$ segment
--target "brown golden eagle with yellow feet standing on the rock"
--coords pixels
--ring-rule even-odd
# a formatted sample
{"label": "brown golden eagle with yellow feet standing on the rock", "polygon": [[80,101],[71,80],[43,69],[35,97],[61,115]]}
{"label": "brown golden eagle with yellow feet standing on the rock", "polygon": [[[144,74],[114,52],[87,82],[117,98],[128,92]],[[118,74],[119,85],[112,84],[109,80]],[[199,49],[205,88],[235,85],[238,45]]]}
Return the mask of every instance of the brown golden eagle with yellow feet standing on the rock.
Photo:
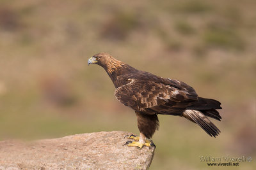
{"label": "brown golden eagle with yellow feet standing on the rock", "polygon": [[186,83],[140,71],[108,53],[93,55],[89,64],[98,64],[106,70],[115,85],[116,99],[136,113],[140,137],[129,136],[135,141],[127,141],[128,146],[154,145],[148,139],[159,127],[157,115],[184,117],[198,124],[210,136],[220,134],[207,117],[220,120],[216,109],[221,109],[221,103],[198,97],[193,87]]}

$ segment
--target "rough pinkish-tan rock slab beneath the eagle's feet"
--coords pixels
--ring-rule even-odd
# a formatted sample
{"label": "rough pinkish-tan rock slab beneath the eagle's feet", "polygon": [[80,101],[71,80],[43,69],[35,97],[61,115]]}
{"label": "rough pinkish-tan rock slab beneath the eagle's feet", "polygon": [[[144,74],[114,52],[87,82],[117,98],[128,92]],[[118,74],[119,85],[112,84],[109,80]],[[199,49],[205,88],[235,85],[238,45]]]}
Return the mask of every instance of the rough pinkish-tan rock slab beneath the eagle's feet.
{"label": "rough pinkish-tan rock slab beneath the eagle's feet", "polygon": [[29,143],[1,141],[0,169],[148,169],[155,148],[124,146],[127,134],[131,133],[95,132]]}

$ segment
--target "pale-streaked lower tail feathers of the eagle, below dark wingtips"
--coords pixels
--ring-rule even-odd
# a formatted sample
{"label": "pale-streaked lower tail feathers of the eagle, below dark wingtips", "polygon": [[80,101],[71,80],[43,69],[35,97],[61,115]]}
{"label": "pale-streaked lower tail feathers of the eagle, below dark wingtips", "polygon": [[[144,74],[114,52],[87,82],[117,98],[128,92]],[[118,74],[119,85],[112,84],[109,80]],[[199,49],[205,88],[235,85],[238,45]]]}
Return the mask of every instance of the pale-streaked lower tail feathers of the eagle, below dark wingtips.
{"label": "pale-streaked lower tail feathers of the eagle, below dark wingtips", "polygon": [[[215,110],[216,111],[216,110]],[[217,111],[218,112],[218,111]],[[204,129],[209,136],[218,136],[220,134],[220,129],[216,127],[207,117],[205,117],[204,113],[206,113],[206,116],[215,118],[217,117],[214,111],[198,111],[198,110],[185,110],[182,113],[182,117],[187,118],[191,122],[194,122],[198,124],[202,129]]]}

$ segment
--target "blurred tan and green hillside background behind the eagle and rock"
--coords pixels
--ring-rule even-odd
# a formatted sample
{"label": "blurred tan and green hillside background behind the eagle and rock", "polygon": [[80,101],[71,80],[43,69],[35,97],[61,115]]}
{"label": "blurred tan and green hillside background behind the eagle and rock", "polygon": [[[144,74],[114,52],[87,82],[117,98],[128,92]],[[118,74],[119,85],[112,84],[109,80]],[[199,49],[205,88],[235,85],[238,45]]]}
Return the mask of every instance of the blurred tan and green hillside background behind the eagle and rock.
{"label": "blurred tan and green hillside background behind the eagle and rock", "polygon": [[[256,167],[256,1],[0,1],[0,139],[139,134],[95,53],[184,81],[221,101],[221,134],[159,116],[150,169],[207,169],[200,156]],[[233,167],[234,168],[234,167]]]}

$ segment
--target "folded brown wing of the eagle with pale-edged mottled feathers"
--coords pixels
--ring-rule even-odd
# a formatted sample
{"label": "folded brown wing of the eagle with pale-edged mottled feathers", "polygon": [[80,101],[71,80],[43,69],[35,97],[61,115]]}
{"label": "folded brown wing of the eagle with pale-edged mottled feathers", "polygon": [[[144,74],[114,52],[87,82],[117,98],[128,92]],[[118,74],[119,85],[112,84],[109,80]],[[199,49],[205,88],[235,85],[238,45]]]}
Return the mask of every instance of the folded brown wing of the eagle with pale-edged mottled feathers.
{"label": "folded brown wing of the eagle with pale-edged mottled feathers", "polygon": [[198,100],[194,91],[138,79],[131,79],[129,83],[118,87],[115,96],[125,106],[148,115],[181,115],[191,103]]}

